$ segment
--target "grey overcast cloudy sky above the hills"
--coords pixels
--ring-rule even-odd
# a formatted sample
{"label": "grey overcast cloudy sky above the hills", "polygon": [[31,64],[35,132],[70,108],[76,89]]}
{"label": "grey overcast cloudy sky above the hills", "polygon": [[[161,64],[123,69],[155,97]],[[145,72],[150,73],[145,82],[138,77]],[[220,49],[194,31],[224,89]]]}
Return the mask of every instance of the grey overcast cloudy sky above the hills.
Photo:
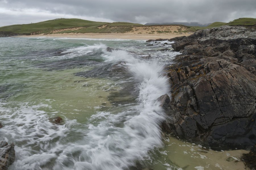
{"label": "grey overcast cloudy sky above the hills", "polygon": [[55,18],[102,22],[229,22],[256,18],[256,0],[0,0],[0,26]]}

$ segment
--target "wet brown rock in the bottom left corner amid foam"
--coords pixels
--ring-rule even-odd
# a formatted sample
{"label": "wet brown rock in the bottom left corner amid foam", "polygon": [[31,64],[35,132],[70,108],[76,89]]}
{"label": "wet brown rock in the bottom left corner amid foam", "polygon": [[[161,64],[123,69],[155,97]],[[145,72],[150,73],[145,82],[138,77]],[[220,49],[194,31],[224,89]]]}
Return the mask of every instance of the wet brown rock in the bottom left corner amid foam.
{"label": "wet brown rock in the bottom left corner amid foam", "polygon": [[0,141],[0,169],[7,170],[8,167],[14,162],[15,150],[14,144],[8,145],[5,141]]}

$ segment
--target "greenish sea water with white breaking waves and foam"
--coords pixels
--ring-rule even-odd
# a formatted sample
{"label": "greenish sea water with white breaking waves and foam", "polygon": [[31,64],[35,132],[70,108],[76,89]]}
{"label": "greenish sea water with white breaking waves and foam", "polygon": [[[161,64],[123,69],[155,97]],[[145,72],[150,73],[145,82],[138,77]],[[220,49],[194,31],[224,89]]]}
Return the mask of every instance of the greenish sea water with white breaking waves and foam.
{"label": "greenish sea water with white breaking waves and foam", "polygon": [[[16,151],[9,169],[244,168],[247,151],[216,152],[161,134],[156,99],[170,95],[163,68],[178,53],[156,50],[171,44],[0,40],[0,140]],[[53,123],[56,116],[63,123]]]}

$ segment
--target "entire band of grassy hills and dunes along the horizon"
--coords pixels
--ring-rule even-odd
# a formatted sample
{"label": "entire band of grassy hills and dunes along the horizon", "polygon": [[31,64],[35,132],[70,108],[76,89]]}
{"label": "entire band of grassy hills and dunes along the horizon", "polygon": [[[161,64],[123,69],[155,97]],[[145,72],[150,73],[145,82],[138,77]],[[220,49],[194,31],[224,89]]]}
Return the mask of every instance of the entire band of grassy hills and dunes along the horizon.
{"label": "entire band of grassy hills and dunes along the horizon", "polygon": [[[188,23],[188,22],[187,22]],[[169,23],[162,23],[164,25],[169,25]],[[180,32],[194,32],[196,30],[201,30],[205,28],[220,27],[222,25],[231,26],[247,26],[256,28],[256,18],[239,18],[229,23],[225,22],[214,22],[208,26],[182,26],[187,25],[185,22],[173,22],[173,25],[180,25],[184,27],[185,30]],[[191,25],[199,25],[198,22],[190,22]],[[34,34],[53,34],[53,33],[125,33],[133,32],[138,30],[137,28],[143,27],[143,29],[148,30],[148,34],[160,34],[160,33],[170,33],[169,30],[152,30],[150,32],[149,28],[144,28],[149,25],[136,24],[130,22],[96,22],[89,20],[82,20],[77,18],[56,18],[53,20],[47,20],[31,24],[16,24],[0,27],[0,37],[1,36],[14,36],[14,35],[34,35]],[[137,28],[136,28],[137,27]],[[151,26],[152,27],[152,26]],[[175,31],[174,31],[175,32]],[[141,34],[141,32],[137,33]]]}

